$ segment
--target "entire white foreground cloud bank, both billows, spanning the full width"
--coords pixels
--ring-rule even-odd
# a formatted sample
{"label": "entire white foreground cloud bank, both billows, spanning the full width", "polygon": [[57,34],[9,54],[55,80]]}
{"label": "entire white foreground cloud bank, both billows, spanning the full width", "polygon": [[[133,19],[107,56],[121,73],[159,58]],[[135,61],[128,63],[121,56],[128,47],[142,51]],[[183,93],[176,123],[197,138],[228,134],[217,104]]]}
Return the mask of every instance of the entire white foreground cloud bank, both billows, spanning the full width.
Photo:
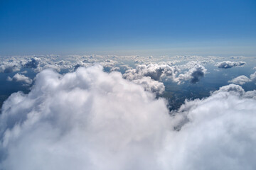
{"label": "entire white foreground cloud bank, both billows, spanning the full width", "polygon": [[169,115],[163,98],[102,69],[48,69],[12,94],[0,169],[255,169],[256,91],[230,84]]}

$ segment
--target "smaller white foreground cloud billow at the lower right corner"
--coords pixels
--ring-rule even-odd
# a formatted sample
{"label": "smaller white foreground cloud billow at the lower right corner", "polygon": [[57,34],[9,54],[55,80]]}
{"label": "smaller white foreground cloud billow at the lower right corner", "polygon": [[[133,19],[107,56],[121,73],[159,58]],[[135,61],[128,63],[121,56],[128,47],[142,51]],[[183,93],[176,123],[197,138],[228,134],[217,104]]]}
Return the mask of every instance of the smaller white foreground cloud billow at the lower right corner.
{"label": "smaller white foreground cloud billow at the lower right corner", "polygon": [[174,111],[166,169],[255,169],[255,92],[230,84]]}

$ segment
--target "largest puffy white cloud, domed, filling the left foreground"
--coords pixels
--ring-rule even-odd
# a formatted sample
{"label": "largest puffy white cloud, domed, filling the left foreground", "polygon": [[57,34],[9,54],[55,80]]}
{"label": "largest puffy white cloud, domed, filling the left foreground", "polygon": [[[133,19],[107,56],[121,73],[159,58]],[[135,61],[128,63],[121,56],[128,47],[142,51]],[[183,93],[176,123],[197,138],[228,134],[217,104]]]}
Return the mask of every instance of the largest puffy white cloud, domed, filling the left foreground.
{"label": "largest puffy white cloud, domed, filling the left foreground", "polygon": [[[0,115],[3,169],[158,169],[164,99],[102,67],[38,74]],[[14,163],[15,162],[15,163]]]}

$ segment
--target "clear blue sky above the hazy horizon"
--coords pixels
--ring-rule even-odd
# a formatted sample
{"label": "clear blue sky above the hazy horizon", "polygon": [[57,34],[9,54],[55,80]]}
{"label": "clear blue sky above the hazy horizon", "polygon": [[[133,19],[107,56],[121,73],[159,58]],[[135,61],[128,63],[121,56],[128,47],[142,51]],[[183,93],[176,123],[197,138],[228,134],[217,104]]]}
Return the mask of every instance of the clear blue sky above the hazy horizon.
{"label": "clear blue sky above the hazy horizon", "polygon": [[255,0],[0,0],[0,55],[255,55]]}

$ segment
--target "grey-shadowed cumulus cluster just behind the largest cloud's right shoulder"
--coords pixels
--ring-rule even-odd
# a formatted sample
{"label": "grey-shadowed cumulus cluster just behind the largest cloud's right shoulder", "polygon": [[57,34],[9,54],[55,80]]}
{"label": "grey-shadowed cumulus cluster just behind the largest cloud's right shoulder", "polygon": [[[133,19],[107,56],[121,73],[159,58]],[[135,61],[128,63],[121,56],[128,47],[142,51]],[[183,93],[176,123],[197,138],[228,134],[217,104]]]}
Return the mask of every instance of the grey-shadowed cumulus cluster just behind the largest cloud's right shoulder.
{"label": "grey-shadowed cumulus cluster just behind the largest cloud's right shoulder", "polygon": [[[160,62],[159,64],[141,64],[136,69],[128,69],[123,77],[134,81],[136,84],[142,84],[146,90],[161,94],[164,91],[164,84],[159,81],[169,79],[178,84],[184,81],[190,81],[192,84],[197,83],[201,77],[206,74],[206,68],[201,62],[188,62],[183,65],[171,66],[169,62]],[[187,70],[183,74],[178,74],[181,70]],[[145,78],[147,77],[147,78]],[[156,91],[158,89],[158,91]]]}

